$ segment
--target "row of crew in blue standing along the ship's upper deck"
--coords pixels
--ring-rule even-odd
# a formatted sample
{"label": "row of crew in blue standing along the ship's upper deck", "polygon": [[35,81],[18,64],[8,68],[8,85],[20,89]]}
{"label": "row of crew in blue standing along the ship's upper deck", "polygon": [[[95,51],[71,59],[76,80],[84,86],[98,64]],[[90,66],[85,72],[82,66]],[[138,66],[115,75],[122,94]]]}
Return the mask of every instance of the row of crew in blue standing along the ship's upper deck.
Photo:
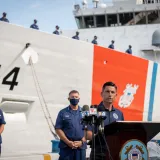
{"label": "row of crew in blue standing along the ship's upper deck", "polygon": [[[6,13],[6,12],[3,12],[2,17],[0,18],[0,21],[4,21],[4,22],[8,22],[8,23],[9,23],[9,20],[7,19],[6,16],[7,16],[7,13]],[[33,24],[30,26],[30,28],[39,30],[39,27],[38,27],[38,25],[37,25],[37,22],[38,22],[38,21],[37,21],[36,19],[34,19],[34,22],[33,22]],[[55,27],[55,31],[53,32],[53,34],[60,35],[59,26],[58,26],[58,25]],[[76,34],[75,34],[72,38],[73,38],[73,39],[76,39],[76,40],[79,40],[79,39],[80,39],[80,38],[79,38],[79,32],[77,31]],[[93,38],[93,40],[91,41],[91,43],[93,43],[93,44],[95,44],[95,45],[98,45],[97,39],[98,39],[98,37],[97,37],[97,36],[94,36],[94,38]],[[114,49],[114,43],[115,43],[115,41],[112,40],[112,41],[111,41],[111,44],[108,46],[108,48]],[[128,53],[128,54],[132,54],[132,46],[129,45],[129,46],[128,46],[128,49],[127,49],[125,52]]]}

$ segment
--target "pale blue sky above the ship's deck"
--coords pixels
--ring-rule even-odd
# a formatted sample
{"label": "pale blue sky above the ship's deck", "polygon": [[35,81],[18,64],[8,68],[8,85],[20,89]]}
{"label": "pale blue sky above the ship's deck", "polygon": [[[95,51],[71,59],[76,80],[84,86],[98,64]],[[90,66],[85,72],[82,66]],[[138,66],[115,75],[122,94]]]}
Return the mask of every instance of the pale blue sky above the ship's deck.
{"label": "pale blue sky above the ship's deck", "polygon": [[10,23],[24,27],[30,27],[37,19],[40,30],[45,32],[53,32],[56,25],[62,30],[77,29],[75,3],[81,4],[82,0],[0,0],[0,14],[6,12]]}

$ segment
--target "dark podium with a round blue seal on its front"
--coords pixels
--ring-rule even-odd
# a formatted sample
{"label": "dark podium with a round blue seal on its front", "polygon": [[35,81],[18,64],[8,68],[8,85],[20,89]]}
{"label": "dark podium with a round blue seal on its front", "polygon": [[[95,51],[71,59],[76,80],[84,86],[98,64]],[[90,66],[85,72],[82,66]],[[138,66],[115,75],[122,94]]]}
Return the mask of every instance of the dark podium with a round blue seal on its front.
{"label": "dark podium with a round blue seal on its front", "polygon": [[[158,122],[118,121],[104,128],[113,160],[147,160],[147,142],[159,132],[160,123]],[[98,135],[95,139],[97,137]],[[96,143],[96,145],[99,144]],[[106,151],[106,160],[110,160],[108,151]]]}

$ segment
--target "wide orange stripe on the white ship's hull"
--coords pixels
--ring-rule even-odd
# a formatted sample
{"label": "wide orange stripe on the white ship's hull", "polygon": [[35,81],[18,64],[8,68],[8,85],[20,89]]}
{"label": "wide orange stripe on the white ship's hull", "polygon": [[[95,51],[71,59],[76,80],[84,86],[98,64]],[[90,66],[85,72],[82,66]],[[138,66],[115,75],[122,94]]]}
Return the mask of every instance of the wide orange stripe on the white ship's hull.
{"label": "wide orange stripe on the white ship's hull", "polygon": [[[122,110],[125,120],[142,121],[148,65],[147,60],[94,46],[92,104],[98,104],[102,100],[102,85],[107,81],[113,81],[118,86],[115,107]],[[139,87],[129,107],[121,108],[118,102],[127,84]]]}

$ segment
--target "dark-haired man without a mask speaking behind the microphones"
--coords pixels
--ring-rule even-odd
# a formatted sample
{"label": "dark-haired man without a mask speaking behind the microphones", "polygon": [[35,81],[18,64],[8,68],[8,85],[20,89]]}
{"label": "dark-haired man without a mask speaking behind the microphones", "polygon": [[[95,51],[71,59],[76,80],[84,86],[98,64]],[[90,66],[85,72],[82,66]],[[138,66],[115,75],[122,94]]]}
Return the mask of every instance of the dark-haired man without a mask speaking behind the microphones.
{"label": "dark-haired man without a mask speaking behind the microphones", "polygon": [[[113,106],[113,102],[117,97],[117,86],[113,82],[106,82],[103,84],[101,92],[102,102],[98,105],[97,111],[105,111],[107,118],[104,120],[104,126],[115,122],[123,121],[123,113]],[[95,134],[97,134],[98,129],[95,127]],[[100,132],[100,131],[99,131]],[[92,127],[88,127],[87,139],[92,140]],[[98,139],[96,139],[95,146],[95,160],[105,160],[106,158],[106,142],[105,136],[99,134]],[[91,149],[90,160],[93,159],[93,149]]]}

